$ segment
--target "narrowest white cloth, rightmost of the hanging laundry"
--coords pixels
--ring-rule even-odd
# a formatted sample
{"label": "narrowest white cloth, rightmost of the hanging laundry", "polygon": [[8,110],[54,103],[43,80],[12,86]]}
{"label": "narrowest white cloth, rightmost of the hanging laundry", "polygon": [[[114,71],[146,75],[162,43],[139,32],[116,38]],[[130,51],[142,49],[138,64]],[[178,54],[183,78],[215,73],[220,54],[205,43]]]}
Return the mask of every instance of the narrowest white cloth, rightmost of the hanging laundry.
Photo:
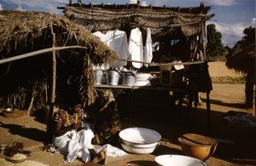
{"label": "narrowest white cloth, rightmost of the hanging laundry", "polygon": [[[146,43],[144,46],[144,61],[150,63],[153,59],[153,52],[152,52],[152,39],[151,39],[151,31],[148,28],[147,29],[147,38]],[[144,64],[145,66],[148,66],[148,64]]]}

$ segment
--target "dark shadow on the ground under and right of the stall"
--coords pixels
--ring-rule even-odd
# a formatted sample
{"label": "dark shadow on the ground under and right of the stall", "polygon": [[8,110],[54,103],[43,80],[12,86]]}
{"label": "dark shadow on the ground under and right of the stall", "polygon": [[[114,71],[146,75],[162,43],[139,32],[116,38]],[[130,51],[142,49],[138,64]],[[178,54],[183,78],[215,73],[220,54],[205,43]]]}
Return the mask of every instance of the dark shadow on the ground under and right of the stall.
{"label": "dark shadow on the ground under and right of the stall", "polygon": [[[211,100],[211,103],[219,106],[230,106],[233,109],[245,108],[243,103],[224,103],[221,100]],[[132,109],[123,109],[120,113],[125,115],[123,116],[125,117],[123,128],[154,129],[162,135],[163,140],[172,142],[177,146],[179,146],[177,139],[181,135],[187,133],[206,135],[218,140],[217,150],[212,157],[230,163],[256,165],[256,128],[230,127],[224,121],[225,112],[212,110],[208,121],[206,108],[198,107],[196,110],[188,112],[185,106],[177,110],[177,108],[170,107],[168,103],[154,106],[154,103],[148,105],[137,102],[134,103]],[[161,154],[182,154],[182,152],[167,146],[159,146],[153,154],[158,156]]]}

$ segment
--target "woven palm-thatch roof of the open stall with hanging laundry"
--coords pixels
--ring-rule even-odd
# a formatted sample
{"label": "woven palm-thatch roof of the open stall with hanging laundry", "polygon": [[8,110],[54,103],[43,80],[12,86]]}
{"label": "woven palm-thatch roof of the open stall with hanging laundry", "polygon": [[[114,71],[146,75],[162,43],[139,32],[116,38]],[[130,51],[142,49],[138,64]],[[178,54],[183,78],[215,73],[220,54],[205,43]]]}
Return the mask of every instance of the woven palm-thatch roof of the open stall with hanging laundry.
{"label": "woven palm-thatch roof of the open stall with hanging laundry", "polygon": [[201,22],[211,19],[211,7],[196,8],[143,7],[139,4],[67,4],[63,13],[90,31],[125,30],[140,27],[151,29],[152,37],[173,36],[179,31],[185,36],[201,33]]}

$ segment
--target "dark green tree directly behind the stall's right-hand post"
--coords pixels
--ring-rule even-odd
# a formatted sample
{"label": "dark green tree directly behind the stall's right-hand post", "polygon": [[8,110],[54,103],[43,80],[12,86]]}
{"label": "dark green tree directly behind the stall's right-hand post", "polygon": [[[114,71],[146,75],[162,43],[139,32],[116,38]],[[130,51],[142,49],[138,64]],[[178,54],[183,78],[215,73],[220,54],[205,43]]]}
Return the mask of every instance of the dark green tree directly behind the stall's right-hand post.
{"label": "dark green tree directly behind the stall's right-hand post", "polygon": [[208,57],[223,56],[226,49],[221,42],[222,34],[214,24],[207,25],[207,55]]}

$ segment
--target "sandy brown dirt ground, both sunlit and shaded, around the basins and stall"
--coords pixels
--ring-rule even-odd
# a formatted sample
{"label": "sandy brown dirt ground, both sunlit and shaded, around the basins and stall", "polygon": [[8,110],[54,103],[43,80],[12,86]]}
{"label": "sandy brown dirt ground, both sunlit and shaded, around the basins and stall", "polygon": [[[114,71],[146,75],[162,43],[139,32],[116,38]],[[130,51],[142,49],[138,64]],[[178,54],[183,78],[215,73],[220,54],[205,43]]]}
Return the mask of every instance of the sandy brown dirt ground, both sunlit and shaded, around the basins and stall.
{"label": "sandy brown dirt ground, both sunlit and shaded, around the basins and stall", "polygon": [[[148,94],[147,94],[148,93]],[[147,98],[143,98],[146,94]],[[159,97],[161,96],[161,97]],[[129,153],[123,157],[107,157],[105,165],[122,166],[123,163],[138,163],[141,166],[154,166],[154,157],[162,154],[183,154],[178,137],[195,133],[210,136],[218,141],[217,151],[206,163],[208,165],[256,165],[256,128],[230,127],[224,121],[226,112],[248,112],[244,108],[244,85],[213,83],[211,98],[211,121],[207,125],[206,95],[201,94],[203,103],[195,111],[171,109],[168,97],[156,92],[135,94],[137,100],[131,110],[121,110],[124,120],[122,128],[143,127],[160,133],[162,140],[151,154],[138,155]],[[162,99],[160,99],[162,98]],[[147,101],[147,102],[146,102]],[[149,101],[149,102],[148,102]],[[188,117],[185,117],[188,113]],[[46,126],[35,117],[23,116],[6,118],[0,116],[0,145],[21,142],[25,150],[32,152],[27,159],[48,165],[82,165],[76,159],[73,163],[64,163],[65,156],[43,152],[43,140]],[[7,158],[3,153],[0,158]],[[19,164],[17,164],[19,165]]]}

